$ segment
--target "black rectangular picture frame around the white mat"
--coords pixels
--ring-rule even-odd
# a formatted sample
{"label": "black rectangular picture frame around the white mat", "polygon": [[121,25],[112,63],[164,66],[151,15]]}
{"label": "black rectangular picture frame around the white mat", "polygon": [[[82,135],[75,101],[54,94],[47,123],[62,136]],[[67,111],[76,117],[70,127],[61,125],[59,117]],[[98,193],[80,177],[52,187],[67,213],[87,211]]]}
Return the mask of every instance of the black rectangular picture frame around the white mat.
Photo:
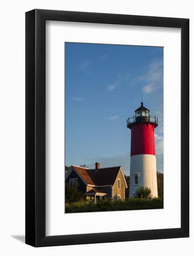
{"label": "black rectangular picture frame around the white mat", "polygon": [[[46,20],[181,28],[181,228],[46,236]],[[188,236],[189,19],[39,9],[27,12],[26,243],[34,247],[43,247]]]}

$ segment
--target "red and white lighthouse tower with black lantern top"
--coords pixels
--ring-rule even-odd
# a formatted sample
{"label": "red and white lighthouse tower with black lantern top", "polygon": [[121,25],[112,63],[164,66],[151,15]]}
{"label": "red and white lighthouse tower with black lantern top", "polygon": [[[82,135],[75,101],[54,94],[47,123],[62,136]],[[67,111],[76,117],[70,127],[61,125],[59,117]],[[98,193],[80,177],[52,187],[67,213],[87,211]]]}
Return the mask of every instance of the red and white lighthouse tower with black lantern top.
{"label": "red and white lighthouse tower with black lantern top", "polygon": [[127,128],[131,130],[129,196],[133,196],[139,187],[147,187],[153,197],[158,197],[154,142],[157,126],[158,118],[150,116],[143,102],[135,115],[127,119]]}

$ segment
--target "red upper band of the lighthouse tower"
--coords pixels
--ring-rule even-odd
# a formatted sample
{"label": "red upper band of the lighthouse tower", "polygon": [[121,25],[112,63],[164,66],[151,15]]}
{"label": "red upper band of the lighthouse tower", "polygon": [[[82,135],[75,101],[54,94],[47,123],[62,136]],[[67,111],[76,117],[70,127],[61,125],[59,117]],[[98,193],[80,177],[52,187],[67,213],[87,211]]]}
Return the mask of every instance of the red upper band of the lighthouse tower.
{"label": "red upper band of the lighthouse tower", "polygon": [[131,127],[131,156],[155,155],[154,123],[136,123]]}

